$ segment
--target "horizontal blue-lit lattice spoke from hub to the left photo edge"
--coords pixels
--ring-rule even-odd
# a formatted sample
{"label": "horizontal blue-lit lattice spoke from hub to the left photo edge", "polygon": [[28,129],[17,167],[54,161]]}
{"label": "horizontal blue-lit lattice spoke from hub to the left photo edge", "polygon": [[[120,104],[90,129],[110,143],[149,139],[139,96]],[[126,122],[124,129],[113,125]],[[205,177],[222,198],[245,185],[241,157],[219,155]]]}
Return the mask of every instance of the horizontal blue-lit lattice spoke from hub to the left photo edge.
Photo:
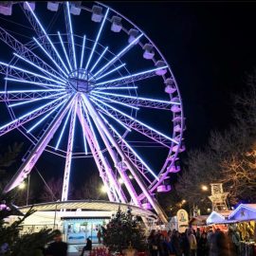
{"label": "horizontal blue-lit lattice spoke from hub to the left photo edge", "polygon": [[60,91],[64,89],[0,91],[0,101],[29,101],[50,96],[55,98]]}

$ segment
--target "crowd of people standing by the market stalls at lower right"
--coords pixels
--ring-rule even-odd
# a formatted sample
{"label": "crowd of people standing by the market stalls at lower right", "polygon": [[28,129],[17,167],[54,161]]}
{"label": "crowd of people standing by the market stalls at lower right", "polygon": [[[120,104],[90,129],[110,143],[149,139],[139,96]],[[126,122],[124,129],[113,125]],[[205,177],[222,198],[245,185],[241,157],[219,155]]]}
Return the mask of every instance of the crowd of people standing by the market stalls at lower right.
{"label": "crowd of people standing by the market stalls at lower right", "polygon": [[239,241],[239,232],[233,229],[228,233],[192,228],[179,233],[174,229],[167,234],[152,230],[148,237],[150,256],[237,256]]}

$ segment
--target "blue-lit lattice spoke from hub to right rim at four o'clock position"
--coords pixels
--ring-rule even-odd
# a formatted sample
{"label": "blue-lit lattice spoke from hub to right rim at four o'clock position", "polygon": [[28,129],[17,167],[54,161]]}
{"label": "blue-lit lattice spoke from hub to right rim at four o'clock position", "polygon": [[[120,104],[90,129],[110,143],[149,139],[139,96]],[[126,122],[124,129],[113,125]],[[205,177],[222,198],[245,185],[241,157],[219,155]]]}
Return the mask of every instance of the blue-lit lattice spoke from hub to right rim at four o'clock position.
{"label": "blue-lit lattice spoke from hub to right rim at four o'clock position", "polygon": [[176,140],[172,137],[168,137],[161,132],[155,130],[153,127],[147,125],[146,123],[139,121],[138,119],[134,119],[131,116],[127,115],[126,113],[120,111],[119,109],[113,107],[112,105],[100,101],[98,99],[95,99],[95,101],[98,101],[101,105],[105,106],[105,110],[112,116],[114,116],[116,119],[119,119],[124,124],[129,126],[131,129],[136,130],[138,133],[150,137],[154,139],[156,142],[159,142],[160,144],[164,145],[165,147],[170,148],[169,143],[174,142],[175,144],[178,144]]}

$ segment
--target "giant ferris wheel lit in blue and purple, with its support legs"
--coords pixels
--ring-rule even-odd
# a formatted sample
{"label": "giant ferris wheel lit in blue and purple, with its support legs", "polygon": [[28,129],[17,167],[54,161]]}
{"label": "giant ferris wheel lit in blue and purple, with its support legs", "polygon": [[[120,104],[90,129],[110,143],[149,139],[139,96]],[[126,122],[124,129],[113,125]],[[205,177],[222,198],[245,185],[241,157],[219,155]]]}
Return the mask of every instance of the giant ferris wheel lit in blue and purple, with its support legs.
{"label": "giant ferris wheel lit in blue and purple, with its support legs", "polygon": [[[166,221],[155,192],[171,191],[170,176],[180,171],[184,117],[170,65],[152,40],[98,2],[9,2],[0,12],[9,15],[0,26],[9,46],[0,101],[11,117],[0,136],[18,129],[31,141],[5,192],[50,152],[64,158],[66,201],[72,162],[84,158],[95,162],[110,201],[154,209]],[[16,31],[2,27],[11,18]],[[164,160],[153,168],[158,149]]]}

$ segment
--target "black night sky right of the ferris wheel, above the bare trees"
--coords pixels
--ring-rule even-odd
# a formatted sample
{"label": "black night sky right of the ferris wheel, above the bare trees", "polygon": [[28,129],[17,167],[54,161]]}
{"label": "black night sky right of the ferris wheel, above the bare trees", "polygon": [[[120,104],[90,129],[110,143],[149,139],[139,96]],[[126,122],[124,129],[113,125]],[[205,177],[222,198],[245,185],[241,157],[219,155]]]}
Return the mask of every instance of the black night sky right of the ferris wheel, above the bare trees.
{"label": "black night sky right of the ferris wheel, above the bare trees", "polygon": [[[243,90],[247,73],[256,63],[256,3],[158,1],[108,5],[144,30],[171,65],[184,105],[187,148],[202,147],[210,130],[227,128],[232,121],[231,94]],[[1,137],[1,147],[11,139]],[[14,139],[22,141],[23,137]],[[41,161],[46,174],[47,164]],[[49,165],[49,170],[56,169],[58,161],[50,160]]]}

